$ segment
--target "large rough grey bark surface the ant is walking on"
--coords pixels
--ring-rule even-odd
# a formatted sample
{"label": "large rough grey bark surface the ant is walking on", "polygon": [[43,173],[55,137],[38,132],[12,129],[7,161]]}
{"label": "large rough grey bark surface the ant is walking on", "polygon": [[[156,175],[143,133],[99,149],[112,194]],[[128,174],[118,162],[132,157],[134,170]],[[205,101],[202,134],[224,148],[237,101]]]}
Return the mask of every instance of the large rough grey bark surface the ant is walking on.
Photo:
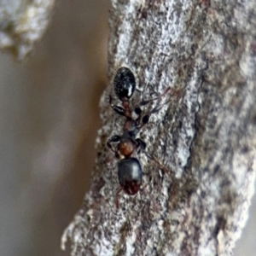
{"label": "large rough grey bark surface the ant is walking on", "polygon": [[[110,83],[90,191],[62,248],[69,240],[75,256],[232,255],[256,168],[255,10],[255,1],[112,1],[109,79],[126,66],[144,97],[172,88],[139,133],[168,171],[141,152],[141,192],[117,194],[106,140],[124,119],[108,104]],[[137,92],[132,106],[141,99]]]}

